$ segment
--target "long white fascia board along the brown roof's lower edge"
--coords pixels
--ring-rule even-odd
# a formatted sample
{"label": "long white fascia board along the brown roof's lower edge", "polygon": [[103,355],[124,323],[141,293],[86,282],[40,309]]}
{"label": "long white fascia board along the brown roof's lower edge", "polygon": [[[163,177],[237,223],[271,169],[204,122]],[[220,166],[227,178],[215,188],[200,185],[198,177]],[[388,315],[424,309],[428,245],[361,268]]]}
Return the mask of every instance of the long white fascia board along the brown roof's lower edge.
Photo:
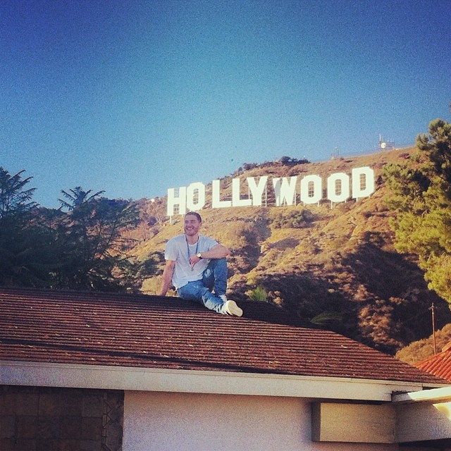
{"label": "long white fascia board along the brown roof's lower edge", "polygon": [[0,384],[385,402],[392,400],[393,392],[424,389],[421,383],[373,379],[6,360],[0,361]]}

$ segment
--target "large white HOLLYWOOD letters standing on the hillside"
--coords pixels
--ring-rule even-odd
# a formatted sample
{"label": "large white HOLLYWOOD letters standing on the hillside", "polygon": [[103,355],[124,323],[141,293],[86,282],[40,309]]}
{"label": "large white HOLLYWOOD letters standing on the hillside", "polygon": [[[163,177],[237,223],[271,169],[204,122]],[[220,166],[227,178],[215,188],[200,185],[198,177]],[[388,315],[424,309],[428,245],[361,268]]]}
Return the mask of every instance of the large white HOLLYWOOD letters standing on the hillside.
{"label": "large white HOLLYWOOD letters standing on the hillside", "polygon": [[[221,196],[221,180],[211,182],[211,208],[230,208],[234,206],[262,206],[268,194],[268,175],[256,180],[247,177],[247,197],[241,195],[240,178],[232,179],[232,195],[228,199]],[[306,175],[298,183],[297,175],[272,179],[276,206],[295,205],[297,194],[303,204],[318,204],[323,199],[323,180],[319,175]],[[299,191],[298,191],[299,187]],[[331,204],[345,202],[352,197],[369,197],[374,192],[374,171],[365,166],[352,169],[352,175],[333,173],[326,180],[326,198]],[[206,204],[206,186],[194,182],[187,187],[168,189],[168,216],[198,211]]]}

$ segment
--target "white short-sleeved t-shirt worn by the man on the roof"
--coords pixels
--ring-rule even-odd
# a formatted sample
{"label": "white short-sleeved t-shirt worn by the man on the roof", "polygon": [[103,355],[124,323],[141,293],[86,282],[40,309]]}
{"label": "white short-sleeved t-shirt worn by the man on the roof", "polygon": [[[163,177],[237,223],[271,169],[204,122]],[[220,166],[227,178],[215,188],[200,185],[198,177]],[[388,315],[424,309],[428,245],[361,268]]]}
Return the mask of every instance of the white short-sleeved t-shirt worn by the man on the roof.
{"label": "white short-sleeved t-shirt worn by the man on the roof", "polygon": [[216,245],[218,245],[216,240],[204,235],[199,235],[199,240],[194,245],[188,245],[185,234],[168,240],[164,249],[164,258],[175,261],[172,283],[176,289],[183,287],[188,282],[202,279],[202,273],[209,264],[209,259],[202,259],[191,266],[189,258],[198,252],[209,251]]}

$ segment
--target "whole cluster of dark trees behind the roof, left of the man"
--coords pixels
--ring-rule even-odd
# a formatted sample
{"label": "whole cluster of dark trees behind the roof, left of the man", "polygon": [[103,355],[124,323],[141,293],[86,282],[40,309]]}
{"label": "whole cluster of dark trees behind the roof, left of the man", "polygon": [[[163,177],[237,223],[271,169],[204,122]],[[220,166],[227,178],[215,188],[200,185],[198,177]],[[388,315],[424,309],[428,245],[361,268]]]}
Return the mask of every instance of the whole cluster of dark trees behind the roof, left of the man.
{"label": "whole cluster of dark trees behind the roof, left of the man", "polygon": [[[125,237],[140,221],[132,202],[78,186],[61,208],[39,208],[25,171],[0,167],[0,285],[75,290],[135,290],[154,271]],[[67,210],[67,211],[64,211]]]}

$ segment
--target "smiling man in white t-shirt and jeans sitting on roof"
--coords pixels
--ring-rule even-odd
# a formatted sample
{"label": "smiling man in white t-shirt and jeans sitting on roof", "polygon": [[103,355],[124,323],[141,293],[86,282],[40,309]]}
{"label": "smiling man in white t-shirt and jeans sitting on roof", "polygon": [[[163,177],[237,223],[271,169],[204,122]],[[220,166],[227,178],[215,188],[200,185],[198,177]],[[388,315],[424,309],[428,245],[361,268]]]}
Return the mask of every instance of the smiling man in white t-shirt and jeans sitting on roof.
{"label": "smiling man in white t-shirt and jeans sitting on roof", "polygon": [[185,233],[166,243],[160,295],[166,296],[172,284],[182,299],[199,302],[218,313],[242,316],[236,302],[226,298],[229,250],[200,235],[201,227],[201,216],[190,211],[185,215]]}

